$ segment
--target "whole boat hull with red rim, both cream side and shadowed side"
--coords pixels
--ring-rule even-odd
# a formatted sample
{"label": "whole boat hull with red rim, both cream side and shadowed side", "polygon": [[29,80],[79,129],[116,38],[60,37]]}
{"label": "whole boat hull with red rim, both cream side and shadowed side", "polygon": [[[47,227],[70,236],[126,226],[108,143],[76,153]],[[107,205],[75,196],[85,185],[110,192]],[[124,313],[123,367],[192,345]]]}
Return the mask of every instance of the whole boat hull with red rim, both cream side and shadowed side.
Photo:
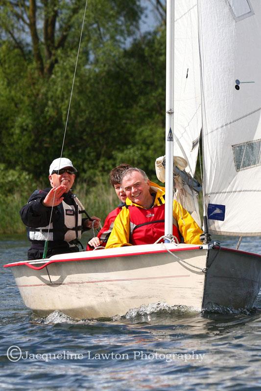
{"label": "whole boat hull with red rim, both cream side and shadowed side", "polygon": [[261,256],[188,244],[71,253],[5,266],[12,267],[24,304],[40,316],[60,310],[78,319],[111,317],[157,302],[198,310],[213,304],[244,308],[261,288]]}

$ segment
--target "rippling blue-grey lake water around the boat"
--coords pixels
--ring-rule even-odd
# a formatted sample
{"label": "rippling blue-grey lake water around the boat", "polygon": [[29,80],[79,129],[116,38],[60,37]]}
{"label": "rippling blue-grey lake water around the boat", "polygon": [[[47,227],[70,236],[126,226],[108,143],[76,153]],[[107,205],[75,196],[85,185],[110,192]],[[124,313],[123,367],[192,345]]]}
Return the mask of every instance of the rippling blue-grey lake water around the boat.
{"label": "rippling blue-grey lake water around the boat", "polygon": [[[0,264],[25,259],[27,248],[0,239]],[[261,238],[243,238],[240,249],[261,254]],[[0,390],[261,390],[261,295],[251,312],[162,303],[75,321],[33,315],[2,267],[0,293]]]}

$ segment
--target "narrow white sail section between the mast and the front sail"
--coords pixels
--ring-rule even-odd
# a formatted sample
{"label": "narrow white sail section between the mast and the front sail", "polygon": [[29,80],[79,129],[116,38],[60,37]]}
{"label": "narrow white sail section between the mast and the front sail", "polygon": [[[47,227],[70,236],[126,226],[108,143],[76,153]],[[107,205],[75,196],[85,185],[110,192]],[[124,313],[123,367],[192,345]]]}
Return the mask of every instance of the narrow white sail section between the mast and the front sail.
{"label": "narrow white sail section between the mast and the front sail", "polygon": [[194,176],[201,130],[197,0],[175,1],[174,156],[188,162]]}

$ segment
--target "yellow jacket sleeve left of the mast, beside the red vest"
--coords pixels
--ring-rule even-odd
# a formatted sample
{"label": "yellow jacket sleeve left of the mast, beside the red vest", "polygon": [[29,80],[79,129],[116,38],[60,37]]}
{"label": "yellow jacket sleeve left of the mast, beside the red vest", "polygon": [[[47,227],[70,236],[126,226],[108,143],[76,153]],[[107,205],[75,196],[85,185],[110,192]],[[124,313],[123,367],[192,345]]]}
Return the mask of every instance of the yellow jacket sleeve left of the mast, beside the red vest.
{"label": "yellow jacket sleeve left of the mast, beside the red vest", "polygon": [[122,208],[114,221],[113,230],[105,248],[132,246],[130,241],[130,214],[127,208]]}

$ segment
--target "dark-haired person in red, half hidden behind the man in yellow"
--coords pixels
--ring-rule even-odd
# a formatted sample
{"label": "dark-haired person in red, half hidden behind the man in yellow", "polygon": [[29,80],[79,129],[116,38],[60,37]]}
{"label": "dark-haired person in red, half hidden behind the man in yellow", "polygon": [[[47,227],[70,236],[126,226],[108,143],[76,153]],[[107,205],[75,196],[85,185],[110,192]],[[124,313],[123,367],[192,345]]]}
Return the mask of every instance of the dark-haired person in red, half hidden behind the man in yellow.
{"label": "dark-haired person in red, half hidden behind the man in yellow", "polygon": [[125,205],[126,194],[125,194],[124,190],[122,189],[120,182],[121,182],[121,177],[122,177],[123,173],[129,168],[131,168],[131,166],[129,164],[122,163],[119,166],[115,167],[110,172],[110,175],[109,175],[110,184],[115,189],[115,192],[120,200],[120,203],[117,206],[117,208],[115,208],[112,212],[110,212],[109,215],[106,217],[104,224],[103,224],[103,227],[99,231],[97,237],[89,240],[86,250],[90,251],[98,246],[105,247],[105,245],[109,239],[109,236],[112,232],[114,220],[119,215],[119,212],[121,211],[122,207]]}

